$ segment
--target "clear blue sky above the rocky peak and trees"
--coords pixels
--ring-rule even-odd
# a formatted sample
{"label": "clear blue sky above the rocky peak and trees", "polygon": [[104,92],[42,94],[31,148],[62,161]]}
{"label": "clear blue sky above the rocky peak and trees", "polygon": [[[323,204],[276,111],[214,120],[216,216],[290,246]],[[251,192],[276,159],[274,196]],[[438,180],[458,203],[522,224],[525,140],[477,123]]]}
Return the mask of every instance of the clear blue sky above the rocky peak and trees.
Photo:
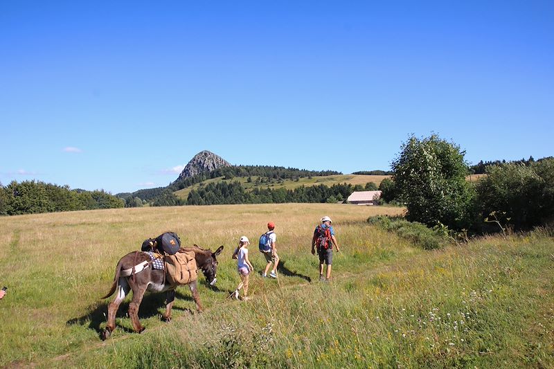
{"label": "clear blue sky above the rocky peak and trees", "polygon": [[388,170],[410,134],[554,154],[554,1],[0,2],[0,182]]}

